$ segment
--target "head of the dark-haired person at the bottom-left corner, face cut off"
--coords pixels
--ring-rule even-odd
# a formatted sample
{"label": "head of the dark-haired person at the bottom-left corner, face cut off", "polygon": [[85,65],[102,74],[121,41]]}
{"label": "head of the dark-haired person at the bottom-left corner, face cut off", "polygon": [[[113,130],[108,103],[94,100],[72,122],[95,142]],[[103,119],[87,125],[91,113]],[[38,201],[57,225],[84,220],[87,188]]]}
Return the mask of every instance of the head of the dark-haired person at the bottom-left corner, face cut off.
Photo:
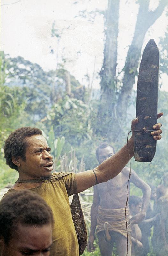
{"label": "head of the dark-haired person at the bottom-left corner, face cut off", "polygon": [[53,215],[47,203],[28,190],[0,202],[1,256],[50,255]]}

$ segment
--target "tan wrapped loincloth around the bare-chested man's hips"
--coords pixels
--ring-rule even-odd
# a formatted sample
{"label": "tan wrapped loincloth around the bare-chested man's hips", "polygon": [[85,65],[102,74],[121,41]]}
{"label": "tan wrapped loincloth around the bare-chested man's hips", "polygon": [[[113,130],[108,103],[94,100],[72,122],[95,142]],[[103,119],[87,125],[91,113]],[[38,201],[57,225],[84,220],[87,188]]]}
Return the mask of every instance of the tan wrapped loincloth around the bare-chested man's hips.
{"label": "tan wrapped loincloth around the bare-chested man's hips", "polygon": [[127,238],[131,244],[131,227],[130,227],[130,212],[129,208],[126,209],[127,216],[127,229],[125,221],[125,208],[121,209],[105,209],[99,205],[97,214],[97,230],[105,231],[105,238],[107,241],[111,239],[109,231],[115,231]]}

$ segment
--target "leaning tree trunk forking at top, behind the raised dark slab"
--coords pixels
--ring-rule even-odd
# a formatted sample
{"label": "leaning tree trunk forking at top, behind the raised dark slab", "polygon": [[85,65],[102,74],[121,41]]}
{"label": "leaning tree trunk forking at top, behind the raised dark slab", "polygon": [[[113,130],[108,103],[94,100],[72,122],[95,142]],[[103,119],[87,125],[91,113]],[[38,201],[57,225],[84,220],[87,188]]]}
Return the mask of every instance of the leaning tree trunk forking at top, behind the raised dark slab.
{"label": "leaning tree trunk forking at top, behind the raised dark slab", "polygon": [[124,78],[121,94],[117,103],[117,116],[122,119],[126,116],[128,103],[131,97],[132,87],[135,83],[135,75],[137,74],[138,62],[141,55],[143,40],[147,30],[163,13],[167,0],[161,0],[155,11],[149,11],[149,0],[139,1],[139,12],[135,26],[135,33],[132,44],[129,47],[125,66]]}

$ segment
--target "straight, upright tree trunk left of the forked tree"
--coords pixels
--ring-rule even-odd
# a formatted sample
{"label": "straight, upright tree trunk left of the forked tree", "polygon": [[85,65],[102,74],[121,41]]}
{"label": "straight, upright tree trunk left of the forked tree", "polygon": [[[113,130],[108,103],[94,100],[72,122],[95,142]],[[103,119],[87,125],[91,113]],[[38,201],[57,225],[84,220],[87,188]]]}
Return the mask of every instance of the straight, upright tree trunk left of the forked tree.
{"label": "straight, upright tree trunk left of the forked tree", "polygon": [[115,75],[117,66],[117,37],[119,22],[119,0],[109,0],[105,14],[104,61],[100,71],[101,100],[98,111],[98,122],[101,124],[102,136],[111,137],[109,127],[112,123],[112,113],[115,105]]}

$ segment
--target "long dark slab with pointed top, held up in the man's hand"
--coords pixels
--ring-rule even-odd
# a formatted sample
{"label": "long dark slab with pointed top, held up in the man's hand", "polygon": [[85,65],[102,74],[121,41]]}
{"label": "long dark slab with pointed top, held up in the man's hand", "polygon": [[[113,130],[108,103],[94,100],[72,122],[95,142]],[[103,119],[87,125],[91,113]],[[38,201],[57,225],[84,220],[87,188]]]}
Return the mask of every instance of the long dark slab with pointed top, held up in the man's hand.
{"label": "long dark slab with pointed top, held up in the man's hand", "polygon": [[153,39],[146,45],[139,68],[136,96],[136,124],[134,140],[135,161],[151,162],[156,151],[156,140],[148,130],[157,124],[159,80],[159,50]]}

